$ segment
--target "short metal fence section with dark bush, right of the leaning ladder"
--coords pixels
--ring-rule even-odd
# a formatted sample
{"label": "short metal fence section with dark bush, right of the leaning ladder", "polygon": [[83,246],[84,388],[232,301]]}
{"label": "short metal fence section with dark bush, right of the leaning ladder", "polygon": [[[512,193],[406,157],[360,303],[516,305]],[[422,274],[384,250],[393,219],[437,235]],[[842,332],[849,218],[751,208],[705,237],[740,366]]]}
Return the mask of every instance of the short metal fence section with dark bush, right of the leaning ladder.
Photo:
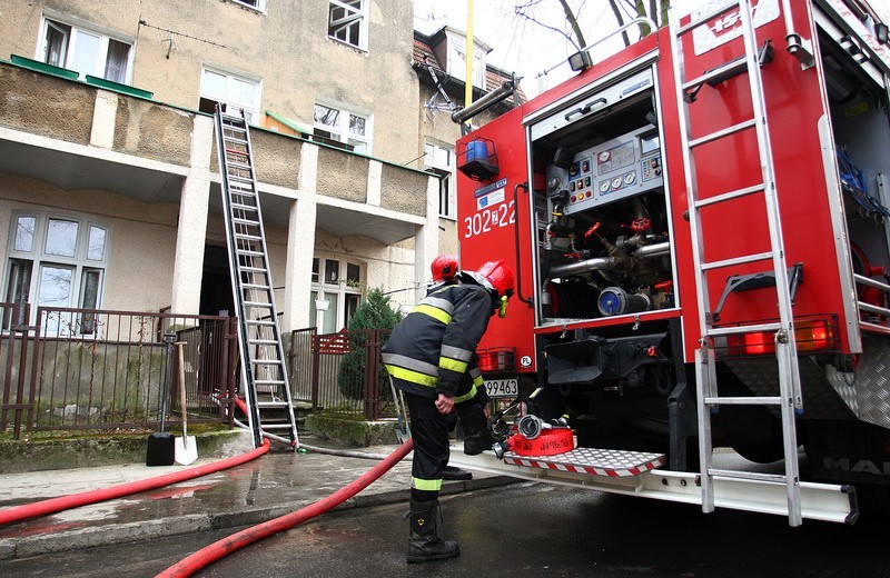
{"label": "short metal fence section with dark bush, right of the leaning ladder", "polygon": [[380,348],[389,330],[343,330],[317,335],[315,328],[291,332],[291,388],[295,399],[326,411],[377,420],[396,410]]}

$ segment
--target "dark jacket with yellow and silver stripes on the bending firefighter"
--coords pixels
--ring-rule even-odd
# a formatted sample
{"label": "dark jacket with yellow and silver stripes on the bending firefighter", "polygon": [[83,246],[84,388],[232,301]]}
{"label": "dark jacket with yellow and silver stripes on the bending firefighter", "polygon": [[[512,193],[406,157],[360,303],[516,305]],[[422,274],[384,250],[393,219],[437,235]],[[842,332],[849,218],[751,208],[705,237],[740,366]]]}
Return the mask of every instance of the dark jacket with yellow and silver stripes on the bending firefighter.
{"label": "dark jacket with yellow and silver stripes on the bending firefighter", "polygon": [[433,291],[396,326],[383,348],[394,385],[426,397],[455,397],[462,383],[464,395],[481,386],[475,351],[492,311],[488,291],[477,285]]}

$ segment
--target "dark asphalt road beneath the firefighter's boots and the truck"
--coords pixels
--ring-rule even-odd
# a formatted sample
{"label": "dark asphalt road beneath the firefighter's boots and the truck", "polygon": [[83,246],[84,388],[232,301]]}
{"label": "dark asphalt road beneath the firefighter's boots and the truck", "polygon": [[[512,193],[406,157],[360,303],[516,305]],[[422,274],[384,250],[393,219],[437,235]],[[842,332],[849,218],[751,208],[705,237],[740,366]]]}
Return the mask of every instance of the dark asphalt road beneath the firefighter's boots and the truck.
{"label": "dark asphalt road beneath the firefighter's boots and the truck", "polygon": [[[206,577],[884,577],[887,519],[840,526],[517,484],[443,500],[461,557],[405,562],[406,506],[328,514],[239,550]],[[234,531],[234,530],[233,530]],[[0,562],[0,576],[154,576],[229,531]],[[472,574],[471,574],[472,572]]]}

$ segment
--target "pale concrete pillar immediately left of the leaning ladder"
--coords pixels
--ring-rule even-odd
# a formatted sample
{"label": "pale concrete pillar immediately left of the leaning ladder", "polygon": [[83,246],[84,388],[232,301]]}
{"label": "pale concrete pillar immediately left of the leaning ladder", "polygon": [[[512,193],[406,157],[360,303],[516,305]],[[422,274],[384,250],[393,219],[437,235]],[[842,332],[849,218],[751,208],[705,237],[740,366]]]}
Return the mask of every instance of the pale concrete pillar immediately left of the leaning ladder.
{"label": "pale concrete pillar immediately left of the leaning ladder", "polygon": [[191,133],[191,159],[188,177],[179,198],[179,225],[176,235],[174,287],[170,296],[174,313],[197,315],[200,308],[204,246],[210,200],[210,152],[214,148],[214,119],[196,116]]}

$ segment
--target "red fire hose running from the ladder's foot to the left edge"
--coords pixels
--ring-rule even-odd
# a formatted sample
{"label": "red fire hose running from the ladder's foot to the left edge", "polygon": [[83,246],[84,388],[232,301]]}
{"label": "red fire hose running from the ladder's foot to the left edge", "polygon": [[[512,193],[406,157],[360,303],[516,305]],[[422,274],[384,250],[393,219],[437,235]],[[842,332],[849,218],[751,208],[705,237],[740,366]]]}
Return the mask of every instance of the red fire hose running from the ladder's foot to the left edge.
{"label": "red fire hose running from the ladder's foot to the left edge", "polygon": [[47,516],[49,514],[56,514],[62,510],[78,508],[80,506],[88,506],[90,504],[97,504],[100,501],[113,500],[115,498],[120,498],[122,496],[154,490],[156,488],[169,486],[170,484],[178,484],[191,478],[207,476],[208,474],[214,474],[224,469],[234,468],[235,466],[240,466],[241,464],[246,464],[251,459],[258,458],[268,451],[269,442],[268,440],[264,439],[263,445],[253,451],[219,461],[214,461],[212,464],[198,466],[197,468],[188,468],[145,480],[131,481],[129,484],[120,484],[109,488],[82,491],[79,494],[71,494],[69,496],[60,496],[58,498],[50,498],[48,500],[16,506],[14,508],[0,510],[0,525],[13,524],[17,521],[27,520],[28,518],[36,518],[38,516]]}

